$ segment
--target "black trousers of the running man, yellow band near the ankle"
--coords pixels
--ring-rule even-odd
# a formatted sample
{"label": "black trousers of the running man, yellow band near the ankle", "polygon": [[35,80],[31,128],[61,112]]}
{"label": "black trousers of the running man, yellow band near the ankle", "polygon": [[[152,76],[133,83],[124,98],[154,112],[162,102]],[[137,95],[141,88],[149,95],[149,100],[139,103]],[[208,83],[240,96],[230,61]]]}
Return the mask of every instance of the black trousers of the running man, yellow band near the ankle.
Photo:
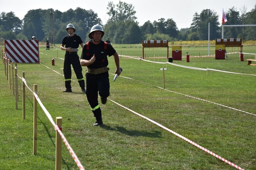
{"label": "black trousers of the running man, yellow band near the ankle", "polygon": [[[98,102],[98,92],[103,98],[109,96],[109,79],[108,71],[101,74],[90,74],[86,73],[86,96],[90,104],[91,110],[95,117],[101,116],[101,109],[97,107]],[[96,108],[96,109],[95,109]]]}

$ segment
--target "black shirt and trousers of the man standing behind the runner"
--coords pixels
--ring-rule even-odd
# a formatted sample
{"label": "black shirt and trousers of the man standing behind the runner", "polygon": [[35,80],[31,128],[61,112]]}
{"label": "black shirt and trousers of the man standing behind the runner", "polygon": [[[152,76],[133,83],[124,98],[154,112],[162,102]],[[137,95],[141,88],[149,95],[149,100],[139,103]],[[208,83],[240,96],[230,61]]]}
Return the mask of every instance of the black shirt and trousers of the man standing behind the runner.
{"label": "black shirt and trousers of the man standing behind the runner", "polygon": [[[65,45],[65,48],[75,48],[79,47],[79,44],[83,43],[80,36],[74,34],[72,37],[69,35],[65,36],[62,40],[62,44]],[[80,64],[79,56],[77,52],[68,52],[66,51],[65,59],[64,59],[64,78],[65,78],[65,86],[67,89],[71,88],[71,64],[76,74],[76,78],[81,88],[85,87],[85,80],[82,74],[82,66]]]}

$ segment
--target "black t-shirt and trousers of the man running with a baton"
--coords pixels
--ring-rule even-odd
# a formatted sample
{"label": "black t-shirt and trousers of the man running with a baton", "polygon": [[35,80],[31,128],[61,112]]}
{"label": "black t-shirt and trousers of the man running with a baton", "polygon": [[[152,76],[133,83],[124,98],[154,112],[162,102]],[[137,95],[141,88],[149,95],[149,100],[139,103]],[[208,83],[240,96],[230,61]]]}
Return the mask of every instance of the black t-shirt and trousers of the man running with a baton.
{"label": "black t-shirt and trousers of the man running with a baton", "polygon": [[86,96],[96,120],[102,116],[98,92],[102,98],[109,96],[108,56],[115,53],[112,45],[102,40],[99,44],[94,44],[91,40],[83,47],[81,59],[90,60],[93,54],[96,58],[94,63],[87,66],[86,73]]}

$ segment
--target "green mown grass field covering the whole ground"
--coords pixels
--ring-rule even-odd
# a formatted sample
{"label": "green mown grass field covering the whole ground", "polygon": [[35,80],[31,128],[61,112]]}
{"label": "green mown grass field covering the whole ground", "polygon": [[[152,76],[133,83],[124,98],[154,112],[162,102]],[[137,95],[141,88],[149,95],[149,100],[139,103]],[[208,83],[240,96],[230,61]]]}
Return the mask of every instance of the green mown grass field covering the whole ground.
{"label": "green mown grass field covering the whole ground", "polygon": [[[139,46],[115,48],[120,55],[142,57]],[[171,56],[171,48],[169,50]],[[147,48],[145,52],[147,60],[166,62],[167,48]],[[186,56],[186,52],[190,55],[189,63],[186,58],[173,63],[256,74],[256,67],[248,66],[246,62],[246,59],[254,59],[255,55],[245,54],[245,61],[241,62],[238,54],[229,54],[225,60],[193,57],[199,56],[199,52],[200,56],[207,55],[207,47],[185,47],[182,56]],[[227,53],[231,52],[238,52],[238,49],[228,48]],[[244,47],[243,52],[255,54],[256,47]],[[86,95],[76,83],[74,72],[73,93],[67,94],[62,93],[64,77],[53,71],[62,72],[64,53],[60,49],[57,52],[56,48],[50,51],[40,48],[41,64],[18,64],[18,75],[21,77],[25,71],[28,86],[33,89],[34,84],[38,85],[38,96],[53,120],[57,116],[63,118],[62,132],[85,169],[234,169],[110,100],[244,169],[256,169],[256,76],[219,71],[208,71],[207,75],[203,70],[120,57],[123,72],[113,82],[115,64],[111,56],[108,59],[110,100],[106,105],[100,104],[104,126],[94,127],[95,118]],[[210,48],[210,54],[215,54],[215,47]],[[52,57],[55,66],[51,66]],[[16,110],[15,96],[9,89],[2,62],[0,67],[0,169],[54,169],[54,128],[38,106],[37,155],[33,155],[33,95],[26,90],[26,119],[23,120],[22,81],[19,79]],[[167,68],[166,90],[159,88],[163,87],[160,68]],[[83,68],[83,75],[85,70]],[[62,169],[78,169],[64,143]]]}

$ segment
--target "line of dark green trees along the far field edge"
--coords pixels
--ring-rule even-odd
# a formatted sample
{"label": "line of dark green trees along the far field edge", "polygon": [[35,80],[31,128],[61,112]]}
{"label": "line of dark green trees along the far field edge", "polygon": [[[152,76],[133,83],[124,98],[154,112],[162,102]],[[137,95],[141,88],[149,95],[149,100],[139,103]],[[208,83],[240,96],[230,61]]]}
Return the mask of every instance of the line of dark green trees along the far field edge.
{"label": "line of dark green trees along the far field edge", "polygon": [[[176,22],[171,19],[160,18],[158,21],[149,20],[139,26],[136,11],[132,4],[119,1],[118,4],[108,2],[109,19],[103,25],[105,36],[111,43],[137,44],[146,39],[166,39],[168,41],[179,40],[207,40],[208,23],[210,23],[210,39],[221,38],[220,16],[211,9],[203,9],[200,13],[195,12],[189,28],[178,30]],[[232,7],[226,13],[228,25],[255,24],[256,5],[247,12],[246,7],[239,11]],[[4,39],[31,39],[35,36],[39,41],[60,44],[63,37],[68,33],[66,26],[72,23],[75,26],[75,34],[79,35],[84,42],[89,41],[90,28],[95,24],[102,25],[98,14],[92,9],[76,8],[65,12],[54,9],[32,9],[27,12],[23,20],[15,16],[14,12],[1,12],[0,14],[0,42]],[[242,38],[255,40],[256,27],[225,27],[226,38]]]}

